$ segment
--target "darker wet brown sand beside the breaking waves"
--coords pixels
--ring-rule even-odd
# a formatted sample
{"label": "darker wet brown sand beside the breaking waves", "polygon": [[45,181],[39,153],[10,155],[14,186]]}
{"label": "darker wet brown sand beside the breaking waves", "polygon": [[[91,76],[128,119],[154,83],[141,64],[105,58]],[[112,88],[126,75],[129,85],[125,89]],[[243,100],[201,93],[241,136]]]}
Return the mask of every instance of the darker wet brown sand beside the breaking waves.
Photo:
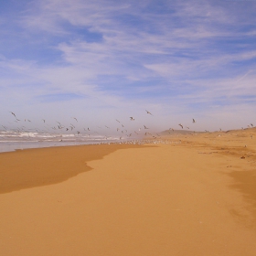
{"label": "darker wet brown sand beside the breaking waves", "polygon": [[[132,144],[87,144],[27,148],[0,154],[0,194],[57,184],[91,170],[87,163]],[[10,168],[10,163],[11,168]],[[47,171],[50,169],[51,171]]]}

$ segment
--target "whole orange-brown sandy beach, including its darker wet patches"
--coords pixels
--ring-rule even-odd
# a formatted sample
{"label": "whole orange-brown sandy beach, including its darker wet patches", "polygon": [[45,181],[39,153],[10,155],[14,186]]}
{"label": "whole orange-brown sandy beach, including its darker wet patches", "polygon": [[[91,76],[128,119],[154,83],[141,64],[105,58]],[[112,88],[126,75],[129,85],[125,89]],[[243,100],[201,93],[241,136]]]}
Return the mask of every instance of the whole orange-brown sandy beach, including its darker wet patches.
{"label": "whole orange-brown sandy beach, including its darker wet patches", "polygon": [[1,255],[256,255],[255,129],[165,139],[0,154]]}

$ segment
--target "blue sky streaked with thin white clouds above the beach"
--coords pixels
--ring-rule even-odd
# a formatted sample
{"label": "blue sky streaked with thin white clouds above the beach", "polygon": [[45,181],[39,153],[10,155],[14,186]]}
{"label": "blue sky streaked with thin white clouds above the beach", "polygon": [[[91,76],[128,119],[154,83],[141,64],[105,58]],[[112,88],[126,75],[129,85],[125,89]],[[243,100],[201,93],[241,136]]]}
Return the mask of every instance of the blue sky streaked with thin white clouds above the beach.
{"label": "blue sky streaked with thin white clouds above the beach", "polygon": [[0,127],[256,125],[255,13],[256,0],[0,0]]}

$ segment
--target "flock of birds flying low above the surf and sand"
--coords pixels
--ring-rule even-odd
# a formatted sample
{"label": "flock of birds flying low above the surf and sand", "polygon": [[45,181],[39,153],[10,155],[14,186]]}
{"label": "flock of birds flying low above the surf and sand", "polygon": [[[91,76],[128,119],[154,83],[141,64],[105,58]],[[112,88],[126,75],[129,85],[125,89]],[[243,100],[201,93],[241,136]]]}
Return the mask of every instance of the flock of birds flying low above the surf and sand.
{"label": "flock of birds flying low above the surf and sand", "polygon": [[[145,110],[146,114],[154,116],[152,112],[149,112],[147,110]],[[15,122],[16,123],[21,123],[21,119],[18,119],[16,116],[15,112],[10,112],[14,118],[15,118]],[[79,123],[78,118],[76,117],[72,117],[72,119],[74,120],[74,122]],[[125,129],[123,123],[121,123],[119,120],[115,120],[117,123],[120,123],[120,126],[116,128],[116,132],[119,133],[120,136],[120,140],[124,139],[125,137],[132,137],[132,136],[138,136],[138,135],[144,135],[144,136],[151,136],[153,138],[157,138],[160,137],[160,134],[158,133],[149,133],[149,127],[147,127],[146,125],[143,125],[143,128],[139,128],[137,131],[133,131],[128,132],[127,129]],[[133,118],[133,116],[130,116],[130,121],[134,122],[135,119]],[[32,123],[31,120],[29,119],[24,119],[24,122],[27,123]],[[44,123],[44,129],[37,129],[37,128],[27,128],[27,126],[25,125],[21,125],[16,127],[15,129],[10,129],[4,125],[2,125],[2,127],[5,129],[5,131],[14,131],[16,133],[26,133],[26,132],[31,132],[31,131],[35,131],[37,133],[63,133],[63,131],[65,131],[66,133],[74,133],[76,135],[79,135],[81,133],[81,130],[78,129],[76,127],[76,125],[74,125],[73,123],[69,123],[69,125],[64,125],[63,123],[60,123],[59,121],[56,121],[56,124],[54,126],[49,126],[48,123],[46,122],[45,119],[42,119],[42,122]],[[192,119],[192,123],[197,123],[196,120],[193,118]],[[24,123],[23,123],[24,124]],[[190,128],[188,126],[183,125],[182,123],[178,123],[178,125],[181,127],[181,129],[186,128],[187,130],[189,130]],[[97,126],[99,129],[101,129],[101,126]],[[104,125],[105,128],[110,129],[109,126]],[[253,124],[251,123],[250,125],[248,125],[249,128],[254,127]],[[241,127],[242,129],[244,129],[243,127]],[[169,128],[168,129],[168,133],[172,133],[175,132],[175,129],[173,128]],[[219,131],[221,132],[221,128],[219,128]],[[87,128],[82,128],[82,132],[86,132],[88,136],[91,136],[92,133],[98,133],[96,131],[91,131],[91,129],[89,127]],[[208,132],[208,130],[205,130],[205,132]],[[157,136],[157,137],[156,137]],[[105,135],[105,138],[108,138],[107,135]]]}

